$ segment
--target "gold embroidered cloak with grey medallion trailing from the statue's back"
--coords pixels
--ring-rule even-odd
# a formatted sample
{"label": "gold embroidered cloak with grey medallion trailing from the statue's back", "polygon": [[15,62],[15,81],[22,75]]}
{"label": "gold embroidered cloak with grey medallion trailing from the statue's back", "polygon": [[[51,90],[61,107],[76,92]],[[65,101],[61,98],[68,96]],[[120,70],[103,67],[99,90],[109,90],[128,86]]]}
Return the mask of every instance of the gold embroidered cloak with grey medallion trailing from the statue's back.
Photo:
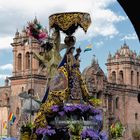
{"label": "gold embroidered cloak with grey medallion trailing from the statue's back", "polygon": [[50,81],[49,89],[47,89],[42,100],[42,105],[37,113],[34,121],[34,128],[44,128],[47,126],[46,116],[51,115],[53,105],[60,105],[68,98],[68,72],[66,69],[66,56],[62,59],[58,74]]}

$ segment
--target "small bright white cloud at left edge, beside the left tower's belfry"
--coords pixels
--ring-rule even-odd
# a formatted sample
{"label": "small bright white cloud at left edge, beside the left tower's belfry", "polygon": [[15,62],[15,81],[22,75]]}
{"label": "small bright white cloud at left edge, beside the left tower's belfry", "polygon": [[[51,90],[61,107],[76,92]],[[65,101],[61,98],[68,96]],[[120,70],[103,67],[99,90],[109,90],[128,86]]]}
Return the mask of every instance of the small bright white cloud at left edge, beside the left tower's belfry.
{"label": "small bright white cloud at left edge, beside the left tower's belfry", "polygon": [[12,37],[0,37],[0,50],[11,49],[10,43],[12,42]]}

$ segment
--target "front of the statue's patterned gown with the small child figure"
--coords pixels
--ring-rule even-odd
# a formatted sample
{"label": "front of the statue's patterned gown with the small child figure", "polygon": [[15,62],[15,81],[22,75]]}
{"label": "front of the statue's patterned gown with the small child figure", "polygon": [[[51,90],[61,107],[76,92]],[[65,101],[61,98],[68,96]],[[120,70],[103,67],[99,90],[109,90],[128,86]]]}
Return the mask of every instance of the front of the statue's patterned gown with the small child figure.
{"label": "front of the statue's patterned gown with the small child figure", "polygon": [[[80,68],[80,60],[79,60],[79,57],[80,57],[80,53],[81,53],[81,49],[80,48],[77,48],[76,49],[76,55],[73,57],[73,60],[71,60],[71,62],[73,62],[73,64],[71,63],[69,65],[69,71],[70,71],[70,75],[69,75],[69,81],[70,81],[70,92],[71,92],[71,99],[72,100],[77,100],[77,101],[80,101],[80,100],[86,100],[86,98],[88,97],[88,90],[86,88],[86,85],[84,84],[84,81],[82,79],[82,76],[81,76],[81,72],[79,70]],[[68,55],[68,57],[70,57]]]}

